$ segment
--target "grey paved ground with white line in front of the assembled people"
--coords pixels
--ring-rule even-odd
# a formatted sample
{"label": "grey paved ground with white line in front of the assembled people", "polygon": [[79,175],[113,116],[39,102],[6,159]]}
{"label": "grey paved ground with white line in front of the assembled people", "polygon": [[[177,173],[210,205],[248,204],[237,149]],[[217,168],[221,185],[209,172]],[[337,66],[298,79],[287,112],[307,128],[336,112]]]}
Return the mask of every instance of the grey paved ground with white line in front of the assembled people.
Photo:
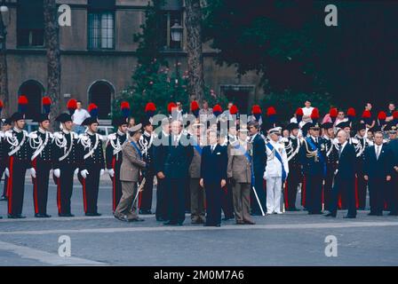
{"label": "grey paved ground with white line in front of the assembled people", "polygon": [[[220,228],[166,227],[146,216],[127,224],[111,216],[107,180],[100,189],[102,217],[84,217],[81,186],[73,195],[74,218],[56,216],[51,187],[51,219],[33,217],[32,187],[27,186],[23,220],[0,220],[0,265],[398,265],[398,217],[356,219],[308,216],[305,211],[254,217],[257,225]],[[6,202],[0,202],[5,216]],[[71,241],[71,257],[59,256],[59,238]],[[325,256],[325,238],[337,239],[338,256]]]}

